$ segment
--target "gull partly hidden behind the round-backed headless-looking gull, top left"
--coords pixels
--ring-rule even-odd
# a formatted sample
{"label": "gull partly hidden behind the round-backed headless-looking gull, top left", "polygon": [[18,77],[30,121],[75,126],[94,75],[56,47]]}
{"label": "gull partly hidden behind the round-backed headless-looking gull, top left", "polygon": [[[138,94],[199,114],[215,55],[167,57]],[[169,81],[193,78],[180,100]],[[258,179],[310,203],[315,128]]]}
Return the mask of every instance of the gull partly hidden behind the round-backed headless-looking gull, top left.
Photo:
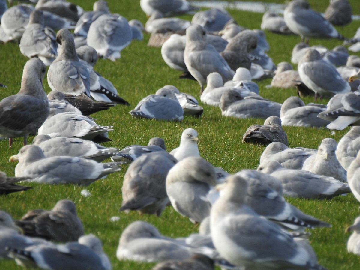
{"label": "gull partly hidden behind the round-backed headless-looking gull, top left", "polygon": [[101,15],[110,13],[108,3],[104,0],[96,1],[93,10],[94,11],[88,11],[81,15],[76,23],[74,35],[86,37],[87,32],[89,32],[90,24]]}

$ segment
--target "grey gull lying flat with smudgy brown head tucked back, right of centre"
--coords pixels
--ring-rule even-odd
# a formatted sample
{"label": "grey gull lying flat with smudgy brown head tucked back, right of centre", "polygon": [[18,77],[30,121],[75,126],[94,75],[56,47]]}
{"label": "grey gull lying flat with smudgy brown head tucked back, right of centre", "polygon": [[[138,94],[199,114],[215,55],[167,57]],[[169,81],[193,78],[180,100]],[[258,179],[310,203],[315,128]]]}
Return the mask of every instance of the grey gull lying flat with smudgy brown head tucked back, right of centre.
{"label": "grey gull lying flat with smudgy brown head tucked back, right of centre", "polygon": [[219,107],[223,116],[266,119],[270,116],[280,117],[281,104],[257,95],[244,98],[236,90],[227,90],[220,98]]}

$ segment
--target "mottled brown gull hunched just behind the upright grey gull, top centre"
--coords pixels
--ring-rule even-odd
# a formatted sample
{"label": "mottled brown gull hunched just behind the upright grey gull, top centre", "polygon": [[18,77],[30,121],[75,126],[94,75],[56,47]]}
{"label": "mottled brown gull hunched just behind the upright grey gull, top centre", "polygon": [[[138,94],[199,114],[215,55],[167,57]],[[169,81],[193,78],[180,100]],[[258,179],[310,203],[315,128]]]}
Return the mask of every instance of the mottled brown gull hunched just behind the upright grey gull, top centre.
{"label": "mottled brown gull hunched just behind the upright grey gull, top centre", "polygon": [[251,68],[248,53],[253,52],[257,45],[257,34],[252,30],[244,30],[234,36],[220,55],[226,60],[232,70],[239,67]]}

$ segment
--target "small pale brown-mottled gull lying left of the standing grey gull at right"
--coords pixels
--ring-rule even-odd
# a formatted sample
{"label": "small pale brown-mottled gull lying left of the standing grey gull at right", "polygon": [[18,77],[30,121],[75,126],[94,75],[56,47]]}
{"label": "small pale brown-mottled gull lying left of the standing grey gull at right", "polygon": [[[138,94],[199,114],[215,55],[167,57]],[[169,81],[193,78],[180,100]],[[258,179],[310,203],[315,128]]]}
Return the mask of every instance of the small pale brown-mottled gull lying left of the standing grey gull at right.
{"label": "small pale brown-mottled gull lying left of the standing grey gull at right", "polygon": [[288,62],[280,62],[274,71],[274,77],[271,80],[272,87],[292,88],[296,81],[301,81],[299,72],[293,70]]}

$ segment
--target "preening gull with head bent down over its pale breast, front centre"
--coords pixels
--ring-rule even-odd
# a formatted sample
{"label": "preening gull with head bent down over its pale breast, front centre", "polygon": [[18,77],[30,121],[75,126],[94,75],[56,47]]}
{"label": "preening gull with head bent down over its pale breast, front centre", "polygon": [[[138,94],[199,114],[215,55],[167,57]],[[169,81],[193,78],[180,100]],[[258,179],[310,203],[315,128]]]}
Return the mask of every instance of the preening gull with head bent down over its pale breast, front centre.
{"label": "preening gull with head bent down over its pale breast, front centre", "polygon": [[217,184],[213,166],[202,157],[187,157],[175,164],[166,177],[166,193],[176,212],[193,223],[210,215],[207,194]]}

